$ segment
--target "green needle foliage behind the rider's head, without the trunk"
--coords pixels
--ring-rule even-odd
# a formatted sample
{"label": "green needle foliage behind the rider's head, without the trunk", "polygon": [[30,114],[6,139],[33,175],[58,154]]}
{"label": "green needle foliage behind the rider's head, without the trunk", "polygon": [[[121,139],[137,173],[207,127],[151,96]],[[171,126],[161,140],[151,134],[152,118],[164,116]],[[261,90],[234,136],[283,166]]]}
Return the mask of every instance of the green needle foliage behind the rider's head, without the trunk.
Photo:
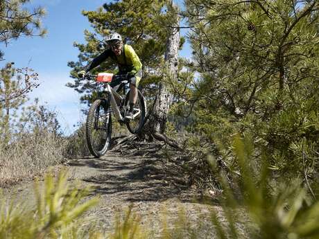
{"label": "green needle foliage behind the rider's head, without the trunk", "polygon": [[[80,94],[81,102],[90,104],[92,101],[92,89],[88,85],[83,85],[77,76],[77,72],[82,69],[94,57],[101,54],[105,49],[104,38],[115,31],[126,39],[136,51],[143,64],[144,87],[156,88],[155,85],[148,85],[148,82],[156,83],[159,80],[157,72],[161,69],[163,55],[165,51],[167,31],[156,22],[157,15],[161,14],[164,1],[117,1],[115,3],[105,3],[103,7],[96,11],[83,11],[87,17],[94,33],[85,30],[86,44],[74,43],[80,54],[78,61],[68,63],[72,68],[71,77],[74,82],[69,82],[68,87],[74,88]],[[116,65],[111,60],[96,67],[92,72],[112,71]]]}

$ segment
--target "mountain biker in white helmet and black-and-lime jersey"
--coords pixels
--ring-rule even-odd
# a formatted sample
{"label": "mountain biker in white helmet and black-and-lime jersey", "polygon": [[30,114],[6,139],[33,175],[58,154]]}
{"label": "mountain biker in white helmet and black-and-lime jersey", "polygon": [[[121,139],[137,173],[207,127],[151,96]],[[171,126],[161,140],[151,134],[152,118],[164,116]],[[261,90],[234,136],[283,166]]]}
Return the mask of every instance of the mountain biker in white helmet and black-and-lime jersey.
{"label": "mountain biker in white helmet and black-and-lime jersey", "polygon": [[[132,46],[128,44],[123,44],[121,35],[118,33],[112,33],[106,37],[105,42],[110,46],[107,50],[103,51],[101,55],[95,57],[91,63],[89,63],[82,71],[78,72],[78,76],[83,78],[86,73],[97,67],[99,64],[111,57],[112,60],[117,62],[119,66],[119,72],[117,75],[128,76],[130,82],[130,109],[126,114],[126,119],[131,120],[133,118],[133,109],[137,101],[137,87],[139,86],[139,81],[141,80],[141,62],[139,57],[135,53]],[[121,85],[119,78],[113,78],[110,83],[110,87],[117,89]]]}

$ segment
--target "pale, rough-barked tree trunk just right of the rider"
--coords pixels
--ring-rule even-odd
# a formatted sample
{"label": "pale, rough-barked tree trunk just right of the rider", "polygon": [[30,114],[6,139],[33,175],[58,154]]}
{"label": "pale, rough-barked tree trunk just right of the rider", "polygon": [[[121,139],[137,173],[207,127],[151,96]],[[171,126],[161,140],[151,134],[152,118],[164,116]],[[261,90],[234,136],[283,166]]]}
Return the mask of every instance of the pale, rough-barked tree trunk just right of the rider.
{"label": "pale, rough-barked tree trunk just right of the rider", "polygon": [[[171,2],[172,8],[177,8]],[[172,94],[166,85],[167,81],[173,81],[177,78],[178,72],[178,49],[180,47],[180,17],[175,14],[174,23],[170,26],[170,34],[166,41],[166,51],[164,57],[163,80],[160,82],[159,90],[153,112],[150,112],[149,120],[146,123],[145,130],[149,136],[157,138],[159,134],[163,134],[167,121],[167,113],[172,103]],[[151,109],[152,110],[152,109]],[[156,136],[157,135],[157,136]]]}

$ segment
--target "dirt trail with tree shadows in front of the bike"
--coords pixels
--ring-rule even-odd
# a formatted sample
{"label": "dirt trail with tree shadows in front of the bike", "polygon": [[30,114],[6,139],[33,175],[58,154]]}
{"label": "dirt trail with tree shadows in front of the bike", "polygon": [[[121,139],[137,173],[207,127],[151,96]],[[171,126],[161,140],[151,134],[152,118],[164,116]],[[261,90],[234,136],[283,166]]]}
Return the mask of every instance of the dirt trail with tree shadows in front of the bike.
{"label": "dirt trail with tree shadows in front of the bike", "polygon": [[[209,213],[212,206],[194,203],[195,191],[183,182],[180,175],[166,175],[161,164],[159,157],[110,151],[100,159],[70,160],[67,168],[71,181],[92,186],[91,196],[101,197],[98,206],[89,214],[97,218],[98,224],[106,231],[112,230],[114,216],[123,213],[130,204],[141,216],[141,223],[157,232],[165,210],[170,217],[176,218],[182,206],[186,209],[187,218],[194,221],[199,220],[201,213]],[[32,197],[32,192],[33,184],[24,184],[5,193]],[[212,235],[207,238],[212,238]]]}

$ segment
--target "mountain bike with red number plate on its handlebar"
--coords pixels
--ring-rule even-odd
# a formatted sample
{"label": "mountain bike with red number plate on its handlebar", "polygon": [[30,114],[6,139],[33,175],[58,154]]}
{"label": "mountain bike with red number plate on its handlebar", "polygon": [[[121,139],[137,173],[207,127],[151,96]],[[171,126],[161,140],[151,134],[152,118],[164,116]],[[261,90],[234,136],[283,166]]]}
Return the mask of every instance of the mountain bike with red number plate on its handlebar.
{"label": "mountain bike with red number plate on its handlebar", "polygon": [[[94,80],[97,86],[96,100],[89,107],[85,133],[89,152],[94,157],[103,156],[110,148],[112,137],[112,113],[121,124],[126,124],[132,134],[141,131],[146,112],[146,104],[141,91],[137,89],[137,102],[133,109],[133,117],[126,120],[126,112],[130,109],[130,83],[126,75],[114,75],[112,73],[98,73],[97,76],[88,75],[85,78],[89,81]],[[122,83],[117,91],[110,87],[110,82],[114,78],[120,78]]]}

